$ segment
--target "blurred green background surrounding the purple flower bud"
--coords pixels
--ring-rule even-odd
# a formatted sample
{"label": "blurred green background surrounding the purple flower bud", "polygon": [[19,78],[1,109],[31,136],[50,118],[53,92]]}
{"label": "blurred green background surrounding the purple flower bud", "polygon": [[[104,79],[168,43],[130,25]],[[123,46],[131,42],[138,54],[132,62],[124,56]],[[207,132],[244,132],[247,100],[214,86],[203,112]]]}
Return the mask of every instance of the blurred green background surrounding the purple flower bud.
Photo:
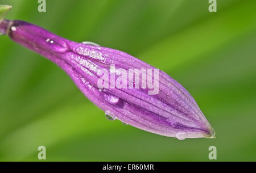
{"label": "blurred green background surrounding the purple flower bud", "polygon": [[93,41],[158,67],[196,99],[216,139],[144,132],[85,98],[46,58],[0,36],[0,161],[256,161],[256,1],[1,0],[7,19]]}

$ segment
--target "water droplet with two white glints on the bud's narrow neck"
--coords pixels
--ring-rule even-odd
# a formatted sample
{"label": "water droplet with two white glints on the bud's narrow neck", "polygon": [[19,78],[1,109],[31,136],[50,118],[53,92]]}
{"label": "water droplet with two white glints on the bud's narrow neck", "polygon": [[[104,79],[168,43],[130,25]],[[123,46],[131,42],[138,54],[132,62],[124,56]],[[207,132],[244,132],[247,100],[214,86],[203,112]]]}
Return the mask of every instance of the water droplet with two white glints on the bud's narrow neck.
{"label": "water droplet with two white glints on the bud's narrow neck", "polygon": [[64,53],[68,50],[67,43],[60,38],[46,39],[46,42],[52,50],[55,50],[55,52]]}

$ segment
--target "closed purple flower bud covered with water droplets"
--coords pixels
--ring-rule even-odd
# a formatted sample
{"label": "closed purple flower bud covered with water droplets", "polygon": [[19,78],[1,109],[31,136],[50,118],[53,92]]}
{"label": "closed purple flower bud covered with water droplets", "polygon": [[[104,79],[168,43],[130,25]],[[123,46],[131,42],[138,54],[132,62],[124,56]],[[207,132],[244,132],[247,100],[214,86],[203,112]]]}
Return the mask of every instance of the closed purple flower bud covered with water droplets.
{"label": "closed purple flower bud covered with water droplets", "polygon": [[127,53],[75,43],[20,20],[3,20],[0,32],[60,66],[110,120],[179,140],[215,137],[183,86]]}

